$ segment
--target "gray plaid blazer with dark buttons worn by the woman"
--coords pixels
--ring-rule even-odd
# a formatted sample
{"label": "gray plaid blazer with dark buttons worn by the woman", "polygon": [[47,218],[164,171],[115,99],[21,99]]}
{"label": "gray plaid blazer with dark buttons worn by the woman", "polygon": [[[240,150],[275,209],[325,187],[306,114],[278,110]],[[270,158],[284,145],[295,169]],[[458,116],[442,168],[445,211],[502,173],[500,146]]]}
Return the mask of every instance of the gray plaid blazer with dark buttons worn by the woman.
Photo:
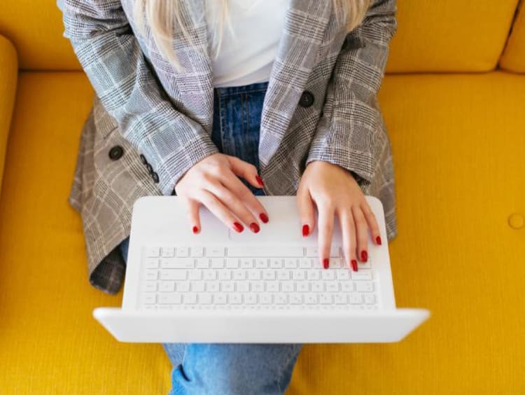
{"label": "gray plaid blazer with dark buttons worn by the woman", "polygon": [[[58,0],[64,36],[90,79],[94,105],[80,137],[69,203],[82,216],[90,283],[120,288],[118,244],[130,235],[132,206],[144,195],[173,195],[195,163],[218,152],[211,141],[213,83],[205,0],[181,0],[190,39],[174,32],[176,71],[133,0]],[[267,195],[295,195],[304,167],[325,160],[352,172],[384,205],[388,240],[396,230],[391,145],[377,104],[395,0],[376,0],[346,32],[330,0],[292,0],[260,125]]]}

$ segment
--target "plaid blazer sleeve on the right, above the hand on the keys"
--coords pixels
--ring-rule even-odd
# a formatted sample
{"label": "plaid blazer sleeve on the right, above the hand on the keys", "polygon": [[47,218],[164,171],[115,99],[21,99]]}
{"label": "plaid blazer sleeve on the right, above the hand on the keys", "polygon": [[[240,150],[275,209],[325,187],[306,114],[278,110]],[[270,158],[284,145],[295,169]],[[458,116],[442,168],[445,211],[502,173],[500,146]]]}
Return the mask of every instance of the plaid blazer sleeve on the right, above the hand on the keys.
{"label": "plaid blazer sleeve on the right, above the hand on the keys", "polygon": [[395,0],[375,0],[361,25],[346,35],[306,165],[323,160],[372,182],[379,155],[374,141],[384,132],[377,91],[397,28],[395,11]]}

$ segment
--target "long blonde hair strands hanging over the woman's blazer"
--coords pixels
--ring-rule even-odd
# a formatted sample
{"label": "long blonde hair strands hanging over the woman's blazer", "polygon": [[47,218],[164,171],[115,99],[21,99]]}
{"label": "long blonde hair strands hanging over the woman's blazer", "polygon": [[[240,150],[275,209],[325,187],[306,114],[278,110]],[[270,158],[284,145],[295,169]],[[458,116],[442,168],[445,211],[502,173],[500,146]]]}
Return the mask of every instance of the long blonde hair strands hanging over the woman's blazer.
{"label": "long blonde hair strands hanging over the woman's blazer", "polygon": [[[228,24],[228,0],[211,0],[221,3],[219,13],[214,13],[211,22],[211,48],[216,55],[223,41],[224,27]],[[346,20],[346,30],[349,32],[357,27],[365,18],[365,13],[372,0],[331,0],[336,18]],[[135,0],[134,18],[139,32],[144,34],[144,23],[151,29],[155,45],[176,70],[181,69],[173,50],[173,32],[175,25],[181,29],[191,46],[190,36],[183,24],[181,0]],[[230,27],[231,29],[231,27]]]}

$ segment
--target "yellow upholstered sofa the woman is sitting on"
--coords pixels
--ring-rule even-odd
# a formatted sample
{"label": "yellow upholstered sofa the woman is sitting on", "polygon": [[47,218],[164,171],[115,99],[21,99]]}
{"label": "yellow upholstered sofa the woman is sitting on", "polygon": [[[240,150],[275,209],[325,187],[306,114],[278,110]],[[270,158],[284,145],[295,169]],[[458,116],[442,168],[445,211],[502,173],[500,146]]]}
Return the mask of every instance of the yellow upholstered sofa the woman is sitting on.
{"label": "yellow upholstered sofa the woman is sitting on", "polygon": [[[397,186],[393,280],[399,306],[433,316],[396,344],[306,345],[288,394],[525,394],[517,3],[398,1],[379,97]],[[91,316],[122,293],[88,284],[67,204],[93,92],[55,0],[6,2],[0,34],[0,393],[166,393],[162,347],[119,343]]]}

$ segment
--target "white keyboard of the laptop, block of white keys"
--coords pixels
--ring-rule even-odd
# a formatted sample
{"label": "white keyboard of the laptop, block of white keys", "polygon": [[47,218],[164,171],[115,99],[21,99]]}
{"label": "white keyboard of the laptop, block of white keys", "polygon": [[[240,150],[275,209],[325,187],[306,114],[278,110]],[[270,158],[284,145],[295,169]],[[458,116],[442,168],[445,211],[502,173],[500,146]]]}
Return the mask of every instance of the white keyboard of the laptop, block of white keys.
{"label": "white keyboard of the laptop, block of white keys", "polygon": [[324,269],[316,247],[144,247],[139,308],[378,308],[373,262],[346,265],[339,247]]}

